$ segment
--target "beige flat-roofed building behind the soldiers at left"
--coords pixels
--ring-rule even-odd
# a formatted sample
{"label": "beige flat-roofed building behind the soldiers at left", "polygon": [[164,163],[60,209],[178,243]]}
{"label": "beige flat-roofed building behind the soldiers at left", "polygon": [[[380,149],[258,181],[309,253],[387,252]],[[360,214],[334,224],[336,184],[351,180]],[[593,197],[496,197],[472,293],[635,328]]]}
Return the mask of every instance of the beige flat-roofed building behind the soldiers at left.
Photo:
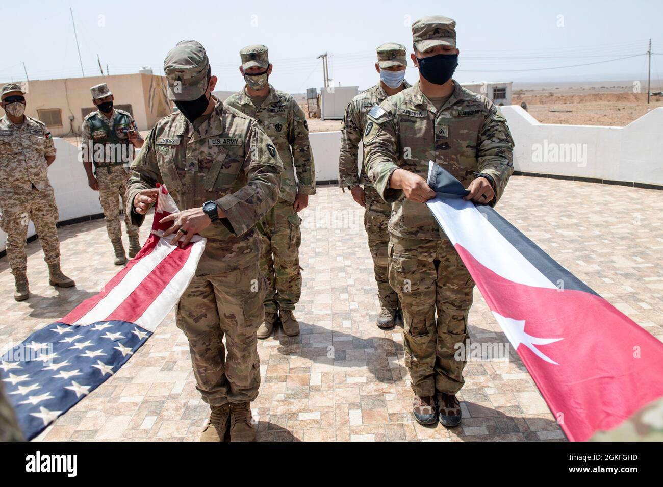
{"label": "beige flat-roofed building behind the soldiers at left", "polygon": [[[107,83],[115,96],[115,107],[131,113],[141,131],[151,129],[158,119],[172,112],[166,78],[135,73],[26,81],[25,114],[46,123],[55,137],[80,135],[83,118],[96,110],[90,87],[99,83]],[[2,109],[0,114],[4,115]]]}

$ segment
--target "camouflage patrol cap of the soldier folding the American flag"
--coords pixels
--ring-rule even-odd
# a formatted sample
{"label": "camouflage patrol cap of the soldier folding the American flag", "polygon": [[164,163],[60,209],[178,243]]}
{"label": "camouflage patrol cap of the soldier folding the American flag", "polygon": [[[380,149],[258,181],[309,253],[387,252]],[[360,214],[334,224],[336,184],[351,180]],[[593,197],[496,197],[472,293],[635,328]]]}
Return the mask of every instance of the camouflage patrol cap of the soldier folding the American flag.
{"label": "camouflage patrol cap of the soldier folding the American flag", "polygon": [[180,40],[164,59],[168,99],[191,101],[200,98],[208,86],[210,60],[196,40]]}

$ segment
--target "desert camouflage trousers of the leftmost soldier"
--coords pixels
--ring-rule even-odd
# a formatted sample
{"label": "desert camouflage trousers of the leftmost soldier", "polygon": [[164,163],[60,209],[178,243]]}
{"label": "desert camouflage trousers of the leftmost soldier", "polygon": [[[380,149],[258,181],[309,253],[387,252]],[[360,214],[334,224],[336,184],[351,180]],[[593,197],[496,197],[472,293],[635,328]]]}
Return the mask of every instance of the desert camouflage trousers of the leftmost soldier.
{"label": "desert camouflage trousers of the leftmost soldier", "polygon": [[25,253],[25,239],[30,220],[44,249],[47,264],[60,262],[60,241],[58,240],[58,207],[52,188],[39,191],[32,188],[29,194],[18,198],[0,201],[2,205],[0,228],[7,233],[7,260],[12,274],[25,274],[28,258]]}

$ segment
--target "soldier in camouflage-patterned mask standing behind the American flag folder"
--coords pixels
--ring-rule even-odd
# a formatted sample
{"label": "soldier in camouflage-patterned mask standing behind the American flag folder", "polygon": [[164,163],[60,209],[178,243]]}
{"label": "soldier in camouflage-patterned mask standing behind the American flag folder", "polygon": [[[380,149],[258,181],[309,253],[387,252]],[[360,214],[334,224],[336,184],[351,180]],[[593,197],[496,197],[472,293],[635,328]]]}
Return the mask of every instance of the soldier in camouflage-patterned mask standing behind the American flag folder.
{"label": "soldier in camouflage-patterned mask standing behind the American flag folder", "polygon": [[253,117],[272,139],[283,162],[280,197],[256,225],[261,237],[260,267],[267,278],[265,321],[258,338],[269,337],[278,321],[284,333],[292,337],[299,334],[299,323],[292,311],[302,293],[302,219],[298,212],[308,205],[308,195],[316,193],[308,125],[295,99],[267,82],[272,72],[267,46],[247,46],[239,51],[239,56],[239,70],[246,86],[231,95],[225,105]]}

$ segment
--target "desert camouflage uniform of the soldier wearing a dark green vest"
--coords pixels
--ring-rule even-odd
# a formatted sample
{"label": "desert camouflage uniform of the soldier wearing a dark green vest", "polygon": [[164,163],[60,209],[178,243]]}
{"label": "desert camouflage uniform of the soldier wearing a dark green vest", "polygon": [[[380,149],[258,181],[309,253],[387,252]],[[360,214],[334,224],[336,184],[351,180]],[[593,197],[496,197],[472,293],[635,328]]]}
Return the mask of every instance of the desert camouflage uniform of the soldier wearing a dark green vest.
{"label": "desert camouflage uniform of the soldier wearing a dark green vest", "polygon": [[[84,154],[88,153],[88,141],[92,140],[96,143],[103,143],[103,140],[105,140],[105,134],[99,134],[96,138],[93,135],[89,122],[90,117],[96,115],[108,125],[109,131],[112,133],[113,126],[115,125],[115,115],[117,113],[125,115],[133,130],[138,133],[138,126],[130,113],[119,109],[113,109],[110,117],[106,117],[100,110],[94,111],[85,117],[81,129],[81,146]],[[117,136],[119,138],[127,139],[127,135],[125,134],[119,133]],[[139,140],[143,140],[140,133],[138,134],[138,137]],[[97,140],[101,140],[101,142],[97,142]],[[129,162],[133,160],[135,154],[133,144],[128,142],[128,145],[130,148],[129,154],[127,154],[129,160],[127,160],[125,164],[104,164],[104,162],[111,162],[110,160],[94,163],[94,175],[97,178],[97,182],[99,182],[99,203],[101,203],[101,208],[103,208],[103,216],[106,220],[106,231],[111,241],[119,241],[122,238],[122,226],[119,217],[120,208],[127,205],[127,201],[125,201],[127,180],[129,179],[129,170],[127,167]],[[112,152],[109,153],[112,154]],[[121,205],[119,203],[120,199],[122,200]],[[124,221],[127,226],[127,235],[129,235],[129,237],[138,237],[138,227],[131,224],[131,218],[129,218],[127,213],[124,215]]]}

